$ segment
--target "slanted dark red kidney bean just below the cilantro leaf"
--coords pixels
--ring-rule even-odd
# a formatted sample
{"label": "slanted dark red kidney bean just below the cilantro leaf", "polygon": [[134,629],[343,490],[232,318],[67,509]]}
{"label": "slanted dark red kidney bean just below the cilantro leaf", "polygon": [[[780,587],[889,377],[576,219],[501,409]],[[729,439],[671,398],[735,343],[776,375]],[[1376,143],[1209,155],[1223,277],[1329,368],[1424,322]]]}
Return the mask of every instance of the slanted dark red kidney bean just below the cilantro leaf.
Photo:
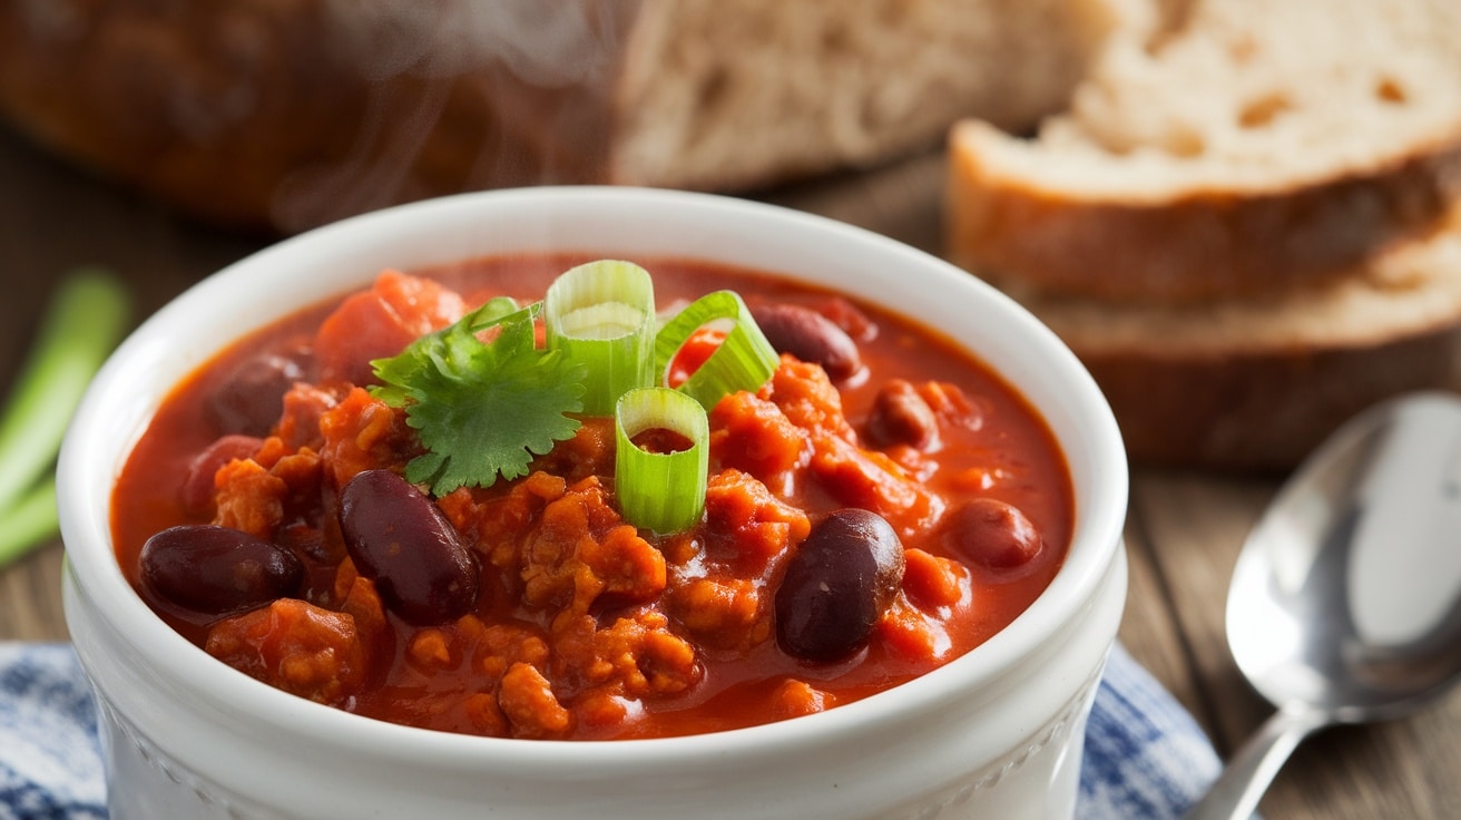
{"label": "slanted dark red kidney bean just below the cilantro leaf", "polygon": [[476,605],[478,564],[431,498],[389,469],[340,491],[340,532],[359,573],[412,624],[440,624]]}

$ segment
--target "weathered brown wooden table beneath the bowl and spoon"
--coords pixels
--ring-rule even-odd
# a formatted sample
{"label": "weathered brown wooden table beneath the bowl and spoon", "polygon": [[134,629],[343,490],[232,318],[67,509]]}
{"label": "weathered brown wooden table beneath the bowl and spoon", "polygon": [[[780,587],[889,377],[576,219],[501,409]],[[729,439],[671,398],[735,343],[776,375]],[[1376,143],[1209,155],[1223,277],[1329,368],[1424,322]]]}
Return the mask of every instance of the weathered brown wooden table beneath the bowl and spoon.
{"label": "weathered brown wooden table beneath the bowl and spoon", "polygon": [[[821,180],[764,199],[868,227],[938,253],[942,158]],[[127,278],[139,316],[267,244],[180,219],[0,130],[0,384],[15,376],[54,278],[102,263]],[[1122,640],[1208,729],[1221,754],[1271,712],[1223,636],[1239,545],[1277,482],[1137,469]],[[61,545],[0,572],[0,640],[64,640]],[[1270,819],[1461,817],[1461,694],[1422,716],[1340,728],[1306,743],[1262,804]],[[1140,820],[1140,819],[1134,819]]]}

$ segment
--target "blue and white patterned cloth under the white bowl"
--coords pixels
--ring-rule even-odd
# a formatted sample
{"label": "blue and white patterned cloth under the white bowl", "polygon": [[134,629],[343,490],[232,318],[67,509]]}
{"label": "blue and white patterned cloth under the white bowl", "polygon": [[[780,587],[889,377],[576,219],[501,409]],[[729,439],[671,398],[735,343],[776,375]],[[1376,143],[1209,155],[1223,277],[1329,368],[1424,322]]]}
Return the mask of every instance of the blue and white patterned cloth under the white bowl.
{"label": "blue and white patterned cloth under the white bowl", "polygon": [[[1086,732],[1077,819],[1175,819],[1217,772],[1192,718],[1116,646]],[[0,820],[105,817],[96,710],[76,655],[0,643]]]}

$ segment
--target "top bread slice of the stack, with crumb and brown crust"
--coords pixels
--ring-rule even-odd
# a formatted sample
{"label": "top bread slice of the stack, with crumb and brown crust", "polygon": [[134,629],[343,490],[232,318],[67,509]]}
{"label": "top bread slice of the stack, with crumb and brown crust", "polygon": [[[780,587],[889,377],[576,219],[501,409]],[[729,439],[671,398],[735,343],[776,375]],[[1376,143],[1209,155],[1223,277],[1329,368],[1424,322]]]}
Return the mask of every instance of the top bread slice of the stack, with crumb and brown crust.
{"label": "top bread slice of the stack, with crumb and brown crust", "polygon": [[1036,139],[953,130],[955,262],[1105,298],[1255,294],[1422,237],[1461,193],[1461,3],[1172,12]]}

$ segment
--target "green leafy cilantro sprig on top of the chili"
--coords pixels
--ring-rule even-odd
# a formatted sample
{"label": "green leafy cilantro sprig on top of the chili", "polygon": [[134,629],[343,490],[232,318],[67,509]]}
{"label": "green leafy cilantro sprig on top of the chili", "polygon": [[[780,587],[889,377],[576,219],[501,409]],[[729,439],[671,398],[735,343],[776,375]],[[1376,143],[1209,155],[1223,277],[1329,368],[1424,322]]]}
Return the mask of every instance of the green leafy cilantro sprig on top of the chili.
{"label": "green leafy cilantro sprig on top of the chili", "polygon": [[[435,496],[527,475],[533,456],[571,439],[583,409],[586,365],[539,349],[542,303],[519,308],[494,298],[457,323],[375,360],[378,399],[406,409],[425,453],[406,479]],[[484,338],[485,336],[485,338]]]}

